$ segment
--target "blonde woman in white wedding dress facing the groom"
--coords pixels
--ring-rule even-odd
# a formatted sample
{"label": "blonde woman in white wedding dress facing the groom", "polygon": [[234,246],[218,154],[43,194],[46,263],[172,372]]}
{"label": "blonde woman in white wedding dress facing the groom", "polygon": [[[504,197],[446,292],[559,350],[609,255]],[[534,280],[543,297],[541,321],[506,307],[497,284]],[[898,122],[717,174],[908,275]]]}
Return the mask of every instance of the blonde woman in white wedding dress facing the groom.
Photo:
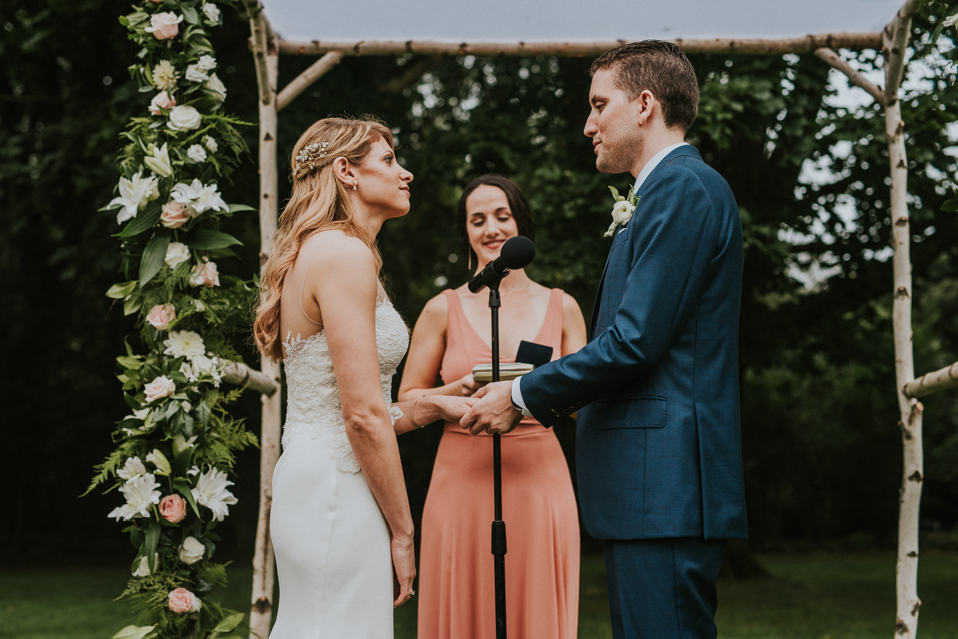
{"label": "blonde woman in white wedding dress facing the groom", "polygon": [[393,636],[393,607],[416,577],[396,435],[459,421],[474,401],[391,403],[409,333],[379,281],[376,234],[409,211],[412,179],[375,121],[320,120],[293,150],[254,323],[263,356],[284,360],[288,393],[273,473],[282,599],[270,639]]}

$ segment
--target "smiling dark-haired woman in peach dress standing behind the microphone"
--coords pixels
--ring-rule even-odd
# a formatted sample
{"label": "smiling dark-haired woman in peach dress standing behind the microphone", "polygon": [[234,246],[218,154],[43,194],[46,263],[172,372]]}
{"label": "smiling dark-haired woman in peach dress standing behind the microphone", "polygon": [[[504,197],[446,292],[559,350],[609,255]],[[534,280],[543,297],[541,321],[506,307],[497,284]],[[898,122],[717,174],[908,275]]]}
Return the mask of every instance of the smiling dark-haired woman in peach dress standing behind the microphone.
{"label": "smiling dark-haired woman in peach dress standing behind the microphone", "polygon": [[[476,273],[499,257],[506,240],[536,235],[525,194],[497,174],[468,184],[456,227]],[[553,359],[585,345],[582,310],[571,295],[536,284],[522,269],[502,281],[500,292],[501,362],[515,361],[522,340],[552,347]],[[489,290],[444,290],[416,322],[399,400],[471,395],[482,385],[472,367],[490,363],[490,342]],[[435,388],[437,377],[443,385]],[[508,634],[575,639],[579,514],[552,430],[527,417],[503,436],[502,487]],[[420,639],[495,636],[492,507],[492,437],[473,437],[458,422],[446,422],[422,513]]]}

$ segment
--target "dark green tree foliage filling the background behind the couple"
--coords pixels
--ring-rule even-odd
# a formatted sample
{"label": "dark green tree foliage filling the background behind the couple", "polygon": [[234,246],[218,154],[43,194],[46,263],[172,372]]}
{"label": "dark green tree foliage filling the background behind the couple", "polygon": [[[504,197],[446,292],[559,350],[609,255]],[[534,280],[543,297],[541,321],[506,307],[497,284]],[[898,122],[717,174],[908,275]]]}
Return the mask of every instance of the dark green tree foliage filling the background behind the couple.
{"label": "dark green tree foliage filling the background behind the couple", "polygon": [[[944,3],[937,3],[938,7]],[[929,11],[939,11],[934,9]],[[940,8],[939,8],[940,9]],[[5,440],[0,557],[16,562],[117,560],[126,541],[105,517],[115,499],[79,500],[89,468],[111,447],[118,402],[113,357],[131,320],[103,291],[117,281],[112,197],[118,135],[148,97],[125,64],[135,53],[104,0],[8,0],[0,6],[0,354]],[[940,12],[939,12],[940,14]],[[226,14],[215,36],[230,110],[256,120],[248,24]],[[923,15],[919,34],[934,28]],[[925,36],[926,37],[926,36]],[[953,30],[945,31],[950,41]],[[923,52],[926,53],[926,52]],[[282,57],[280,85],[312,58]],[[859,57],[866,67],[874,56]],[[412,323],[443,286],[467,278],[452,212],[462,187],[487,171],[512,176],[533,206],[533,276],[558,285],[588,316],[601,274],[610,198],[627,175],[595,171],[582,136],[587,58],[346,58],[280,116],[280,155],[314,120],[375,113],[398,131],[413,171],[413,208],[380,235],[388,285]],[[746,262],[741,314],[742,434],[753,544],[889,545],[895,540],[901,444],[891,342],[887,160],[878,107],[829,105],[829,71],[815,57],[694,57],[702,85],[690,139],[732,186]],[[958,359],[958,219],[941,213],[954,179],[945,127],[956,118],[954,70],[935,64],[902,103],[911,162],[915,348],[920,372]],[[108,80],[107,80],[108,79]],[[246,130],[255,145],[255,130]],[[802,182],[808,162],[830,184]],[[221,185],[227,201],[254,202],[255,157]],[[281,191],[288,183],[281,178]],[[281,194],[282,195],[282,194]],[[842,202],[853,198],[851,206]],[[843,213],[848,212],[848,213]],[[844,217],[840,216],[842,213]],[[258,268],[256,220],[223,227],[243,241],[224,271]],[[457,255],[452,262],[449,256]],[[807,289],[792,264],[834,261]],[[250,353],[247,361],[255,361]],[[924,526],[958,524],[958,395],[925,401]],[[247,394],[237,417],[259,422]],[[568,425],[559,437],[572,461]],[[400,446],[414,509],[422,507],[439,429]],[[257,452],[240,455],[239,504],[223,527],[223,557],[251,552]],[[227,530],[228,529],[228,530]],[[123,552],[118,552],[122,549]]]}

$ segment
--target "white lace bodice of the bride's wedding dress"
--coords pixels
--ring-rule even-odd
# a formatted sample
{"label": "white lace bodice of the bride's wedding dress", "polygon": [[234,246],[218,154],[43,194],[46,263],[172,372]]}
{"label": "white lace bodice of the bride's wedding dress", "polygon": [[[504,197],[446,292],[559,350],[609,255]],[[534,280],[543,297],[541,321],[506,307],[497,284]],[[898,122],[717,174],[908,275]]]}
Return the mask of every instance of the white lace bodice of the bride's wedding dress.
{"label": "white lace bodice of the bride's wedding dress", "polygon": [[[302,433],[311,439],[322,437],[330,445],[337,468],[358,472],[359,462],[346,437],[346,423],[343,422],[326,331],[307,339],[296,335],[295,340],[291,334],[287,334],[283,348],[287,395],[283,447],[290,445],[293,434]],[[396,308],[388,300],[376,301],[379,385],[387,408],[392,404],[393,376],[408,348],[409,330]],[[402,413],[398,408],[390,408],[389,414],[396,422]]]}

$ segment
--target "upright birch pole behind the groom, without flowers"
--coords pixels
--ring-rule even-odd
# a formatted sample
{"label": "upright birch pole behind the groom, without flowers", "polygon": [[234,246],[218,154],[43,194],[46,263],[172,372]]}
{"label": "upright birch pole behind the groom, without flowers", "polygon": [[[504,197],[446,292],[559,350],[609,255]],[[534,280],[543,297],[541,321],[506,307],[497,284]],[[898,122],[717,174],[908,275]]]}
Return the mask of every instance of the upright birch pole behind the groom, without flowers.
{"label": "upright birch pole behind the groom, without flowers", "polygon": [[912,352],[911,226],[908,223],[908,158],[905,154],[904,123],[901,122],[899,89],[904,57],[911,34],[911,17],[918,11],[918,0],[908,0],[884,31],[885,64],[885,138],[891,171],[891,217],[894,269],[892,327],[895,336],[895,377],[901,413],[903,468],[899,502],[898,562],[896,565],[897,615],[895,637],[914,639],[918,632],[918,531],[922,501],[924,457],[922,417],[924,406],[904,393],[905,384],[915,378]]}

